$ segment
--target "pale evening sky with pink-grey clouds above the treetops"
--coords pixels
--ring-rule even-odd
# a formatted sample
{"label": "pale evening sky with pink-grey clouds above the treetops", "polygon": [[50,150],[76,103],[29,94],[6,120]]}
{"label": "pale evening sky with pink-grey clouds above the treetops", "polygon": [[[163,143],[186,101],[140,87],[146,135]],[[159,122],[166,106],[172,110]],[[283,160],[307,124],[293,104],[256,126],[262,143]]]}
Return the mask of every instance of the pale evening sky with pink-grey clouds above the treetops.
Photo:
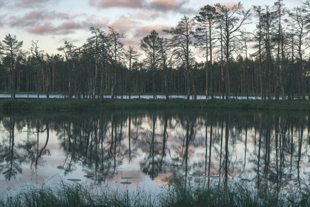
{"label": "pale evening sky with pink-grey clouds above the treetops", "polygon": [[[274,0],[275,1],[275,0]],[[272,6],[274,1],[241,1],[252,5]],[[286,7],[302,6],[304,0],[284,0]],[[39,41],[40,50],[50,55],[70,41],[81,46],[90,37],[90,27],[107,30],[112,26],[124,34],[122,42],[139,49],[142,37],[156,30],[177,25],[184,15],[194,17],[207,4],[228,3],[224,0],[0,0],[0,39],[14,34],[28,50],[31,41]]]}

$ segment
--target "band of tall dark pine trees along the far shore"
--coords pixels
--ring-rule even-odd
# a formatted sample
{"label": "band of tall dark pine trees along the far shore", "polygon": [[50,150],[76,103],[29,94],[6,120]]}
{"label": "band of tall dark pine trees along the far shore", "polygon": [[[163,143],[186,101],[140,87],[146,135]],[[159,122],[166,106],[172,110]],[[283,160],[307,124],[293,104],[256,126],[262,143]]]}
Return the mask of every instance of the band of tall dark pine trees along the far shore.
{"label": "band of tall dark pine trees along the far shore", "polygon": [[204,6],[190,19],[155,30],[141,39],[139,48],[124,46],[115,28],[89,28],[90,38],[77,47],[68,41],[49,55],[32,41],[7,34],[0,43],[0,91],[64,93],[72,98],[112,99],[131,93],[238,95],[307,99],[310,95],[310,2],[291,10],[282,0],[272,7],[242,3],[229,8]]}

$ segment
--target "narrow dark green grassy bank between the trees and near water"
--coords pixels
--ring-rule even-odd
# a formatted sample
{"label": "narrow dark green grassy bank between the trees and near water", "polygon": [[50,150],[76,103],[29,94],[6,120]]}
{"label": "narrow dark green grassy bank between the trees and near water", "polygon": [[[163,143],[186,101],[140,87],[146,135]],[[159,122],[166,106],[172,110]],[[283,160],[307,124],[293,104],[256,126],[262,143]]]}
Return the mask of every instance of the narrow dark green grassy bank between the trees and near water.
{"label": "narrow dark green grassy bank between the trees and near water", "polygon": [[211,99],[104,99],[104,101],[90,99],[2,99],[0,110],[3,112],[28,111],[105,111],[105,110],[132,110],[132,109],[243,109],[243,110],[298,110],[310,111],[310,101],[260,101],[237,100],[225,101]]}

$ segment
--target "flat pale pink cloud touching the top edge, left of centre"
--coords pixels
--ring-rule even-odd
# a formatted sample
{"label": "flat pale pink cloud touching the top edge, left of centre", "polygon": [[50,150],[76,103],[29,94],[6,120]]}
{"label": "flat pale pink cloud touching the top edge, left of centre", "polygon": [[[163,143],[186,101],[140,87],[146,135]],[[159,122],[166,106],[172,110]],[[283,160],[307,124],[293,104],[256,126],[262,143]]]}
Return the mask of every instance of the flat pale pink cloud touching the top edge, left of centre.
{"label": "flat pale pink cloud touching the top edge, left of centre", "polygon": [[99,8],[142,8],[145,0],[89,0],[90,5]]}

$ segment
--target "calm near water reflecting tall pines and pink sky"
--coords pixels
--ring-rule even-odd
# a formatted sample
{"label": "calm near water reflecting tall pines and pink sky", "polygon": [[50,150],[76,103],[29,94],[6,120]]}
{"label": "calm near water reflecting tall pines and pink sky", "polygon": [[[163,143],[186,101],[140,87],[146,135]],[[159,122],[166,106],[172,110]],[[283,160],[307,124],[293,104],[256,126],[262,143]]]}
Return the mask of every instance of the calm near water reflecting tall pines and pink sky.
{"label": "calm near water reflecting tall pines and pink sky", "polygon": [[115,112],[0,117],[0,195],[57,181],[144,186],[170,179],[309,187],[309,116]]}

